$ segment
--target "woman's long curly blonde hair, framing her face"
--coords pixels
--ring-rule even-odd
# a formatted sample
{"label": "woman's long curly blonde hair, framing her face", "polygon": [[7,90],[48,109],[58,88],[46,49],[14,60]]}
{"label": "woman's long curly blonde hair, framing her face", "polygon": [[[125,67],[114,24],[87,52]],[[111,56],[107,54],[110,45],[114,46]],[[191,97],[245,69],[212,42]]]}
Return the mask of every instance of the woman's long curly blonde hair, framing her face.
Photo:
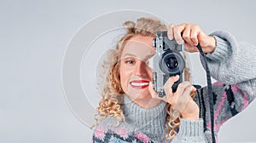
{"label": "woman's long curly blonde hair, framing her face", "polygon": [[[102,100],[97,107],[96,123],[106,117],[114,117],[118,122],[125,121],[124,112],[120,104],[123,102],[125,92],[121,88],[119,77],[120,54],[125,46],[125,41],[137,35],[155,37],[157,31],[166,31],[167,27],[155,18],[140,18],[137,23],[125,21],[125,36],[120,38],[115,49],[108,53],[108,59],[104,61],[103,68],[108,69],[107,84],[102,90]],[[189,80],[189,69],[185,68],[185,80]],[[172,139],[176,134],[180,123],[180,117],[172,117],[172,106],[166,106],[166,139]]]}

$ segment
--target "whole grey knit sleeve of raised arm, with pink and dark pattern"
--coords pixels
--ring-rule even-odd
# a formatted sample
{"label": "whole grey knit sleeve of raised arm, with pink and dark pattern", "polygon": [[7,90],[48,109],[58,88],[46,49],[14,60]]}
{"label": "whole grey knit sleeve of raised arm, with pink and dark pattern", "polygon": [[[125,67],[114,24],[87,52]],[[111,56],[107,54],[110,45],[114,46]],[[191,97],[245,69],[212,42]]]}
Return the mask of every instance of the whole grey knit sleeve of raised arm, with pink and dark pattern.
{"label": "whole grey knit sleeve of raised arm, with pink and dark pattern", "polygon": [[[256,47],[248,43],[236,43],[228,32],[211,34],[217,41],[212,54],[207,54],[211,76],[218,82],[212,84],[214,103],[214,131],[230,117],[244,110],[256,95]],[[201,57],[202,66],[205,67]],[[211,140],[211,119],[207,87],[201,89],[201,117],[205,121],[205,133]]]}

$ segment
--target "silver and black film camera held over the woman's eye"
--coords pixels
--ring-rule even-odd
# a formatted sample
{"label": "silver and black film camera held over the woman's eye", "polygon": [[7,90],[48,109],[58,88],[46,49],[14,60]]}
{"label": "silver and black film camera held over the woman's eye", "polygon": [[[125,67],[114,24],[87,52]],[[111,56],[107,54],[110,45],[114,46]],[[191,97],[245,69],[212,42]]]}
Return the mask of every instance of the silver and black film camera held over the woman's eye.
{"label": "silver and black film camera held over the woman's eye", "polygon": [[179,75],[179,80],[172,86],[172,92],[177,90],[177,85],[183,82],[183,70],[185,67],[183,44],[177,44],[167,37],[167,31],[158,31],[153,39],[155,54],[149,60],[149,66],[153,69],[154,90],[160,97],[165,96],[164,84],[169,77]]}

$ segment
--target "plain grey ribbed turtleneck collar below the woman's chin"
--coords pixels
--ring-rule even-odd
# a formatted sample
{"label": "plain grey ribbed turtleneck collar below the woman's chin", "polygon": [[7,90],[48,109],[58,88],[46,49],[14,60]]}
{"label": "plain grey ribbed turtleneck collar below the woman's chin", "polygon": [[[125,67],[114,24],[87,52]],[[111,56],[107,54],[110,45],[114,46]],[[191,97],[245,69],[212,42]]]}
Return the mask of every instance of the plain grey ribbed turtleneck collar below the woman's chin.
{"label": "plain grey ribbed turtleneck collar below the woman's chin", "polygon": [[166,135],[166,102],[161,101],[158,106],[145,109],[138,106],[125,95],[122,109],[125,113],[125,122],[134,126],[134,129],[147,134],[153,140],[164,140]]}

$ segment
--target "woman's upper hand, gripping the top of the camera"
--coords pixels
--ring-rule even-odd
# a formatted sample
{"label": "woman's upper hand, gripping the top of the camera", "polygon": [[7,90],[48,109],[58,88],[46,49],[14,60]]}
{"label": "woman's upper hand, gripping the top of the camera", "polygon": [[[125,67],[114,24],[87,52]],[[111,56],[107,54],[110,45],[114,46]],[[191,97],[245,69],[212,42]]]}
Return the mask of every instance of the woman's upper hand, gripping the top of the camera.
{"label": "woman's upper hand, gripping the top of the camera", "polygon": [[196,45],[200,44],[204,53],[212,53],[216,48],[216,41],[214,37],[208,36],[201,30],[200,26],[183,23],[174,26],[169,25],[168,37],[170,40],[173,38],[178,44],[184,42],[185,50],[192,53],[198,52]]}

